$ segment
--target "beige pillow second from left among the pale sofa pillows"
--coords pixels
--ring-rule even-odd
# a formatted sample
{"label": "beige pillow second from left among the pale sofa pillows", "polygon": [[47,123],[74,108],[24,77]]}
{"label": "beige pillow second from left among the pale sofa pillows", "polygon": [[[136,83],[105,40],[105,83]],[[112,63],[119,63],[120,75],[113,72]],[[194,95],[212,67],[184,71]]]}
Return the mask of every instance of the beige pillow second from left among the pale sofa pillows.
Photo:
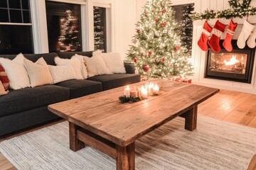
{"label": "beige pillow second from left among the pale sofa pillows", "polygon": [[[37,62],[42,62],[42,59],[43,57],[38,59]],[[44,84],[53,84],[53,77],[50,74],[47,64],[45,65],[43,63],[43,65],[41,65],[37,64],[37,62],[33,63],[30,60],[24,60],[31,87],[42,86]]]}

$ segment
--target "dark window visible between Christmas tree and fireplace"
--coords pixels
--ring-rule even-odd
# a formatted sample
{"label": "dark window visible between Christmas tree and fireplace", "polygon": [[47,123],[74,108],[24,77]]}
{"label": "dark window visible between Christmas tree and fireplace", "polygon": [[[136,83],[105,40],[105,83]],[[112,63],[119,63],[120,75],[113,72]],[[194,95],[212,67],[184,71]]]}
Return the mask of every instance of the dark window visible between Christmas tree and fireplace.
{"label": "dark window visible between Christmas tree and fireplace", "polygon": [[173,6],[175,11],[175,18],[180,27],[178,30],[181,35],[181,43],[188,49],[188,53],[191,55],[192,51],[192,38],[193,38],[193,21],[189,17],[194,9],[194,4],[185,4]]}

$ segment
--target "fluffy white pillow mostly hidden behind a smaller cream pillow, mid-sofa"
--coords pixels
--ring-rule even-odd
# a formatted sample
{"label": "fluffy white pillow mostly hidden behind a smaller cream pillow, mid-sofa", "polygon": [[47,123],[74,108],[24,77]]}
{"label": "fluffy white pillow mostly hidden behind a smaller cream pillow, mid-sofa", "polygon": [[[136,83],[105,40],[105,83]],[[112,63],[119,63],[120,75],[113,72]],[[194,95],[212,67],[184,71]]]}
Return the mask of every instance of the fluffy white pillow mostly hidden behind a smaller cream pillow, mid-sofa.
{"label": "fluffy white pillow mostly hidden behind a smaller cream pillow, mid-sofa", "polygon": [[76,79],[84,79],[82,76],[82,61],[78,57],[73,57],[71,59],[62,59],[60,57],[55,57],[55,64],[58,66],[72,64],[73,70],[75,72]]}

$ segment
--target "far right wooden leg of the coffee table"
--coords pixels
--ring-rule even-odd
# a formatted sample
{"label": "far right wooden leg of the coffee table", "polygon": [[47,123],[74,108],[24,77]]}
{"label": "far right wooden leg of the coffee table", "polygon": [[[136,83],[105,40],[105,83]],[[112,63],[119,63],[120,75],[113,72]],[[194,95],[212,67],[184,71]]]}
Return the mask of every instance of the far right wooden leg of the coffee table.
{"label": "far right wooden leg of the coffee table", "polygon": [[198,106],[194,106],[193,108],[191,108],[191,110],[184,113],[186,130],[192,131],[196,129],[197,111]]}

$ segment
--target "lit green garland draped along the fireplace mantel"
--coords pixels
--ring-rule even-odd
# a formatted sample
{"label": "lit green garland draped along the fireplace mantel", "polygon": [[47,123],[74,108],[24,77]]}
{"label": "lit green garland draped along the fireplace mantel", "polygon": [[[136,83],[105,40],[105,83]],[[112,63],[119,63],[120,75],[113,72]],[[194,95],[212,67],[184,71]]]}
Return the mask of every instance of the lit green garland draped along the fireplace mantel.
{"label": "lit green garland draped along the fireplace mantel", "polygon": [[229,9],[225,9],[223,11],[206,9],[203,13],[192,13],[190,16],[193,20],[209,20],[213,18],[230,19],[233,17],[242,18],[243,16],[255,16],[256,7],[250,6],[251,1],[252,0],[243,0],[242,4],[240,4],[239,0],[230,0],[228,1],[228,4],[230,5]]}

